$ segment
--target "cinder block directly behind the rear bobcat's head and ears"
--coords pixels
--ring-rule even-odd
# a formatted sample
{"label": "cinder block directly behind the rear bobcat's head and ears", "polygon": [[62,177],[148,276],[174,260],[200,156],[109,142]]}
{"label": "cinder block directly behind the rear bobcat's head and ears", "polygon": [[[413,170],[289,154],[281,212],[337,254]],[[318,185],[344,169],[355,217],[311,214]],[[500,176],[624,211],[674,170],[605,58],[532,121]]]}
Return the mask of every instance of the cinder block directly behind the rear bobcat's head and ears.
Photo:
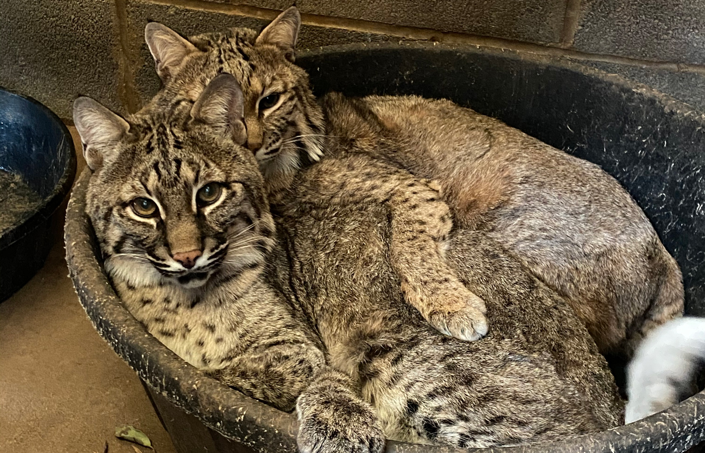
{"label": "cinder block directly behind the rear bobcat's head and ears", "polygon": [[[290,4],[287,6],[290,6]],[[130,61],[135,74],[137,104],[140,106],[154,96],[160,87],[159,77],[154,72],[152,56],[149,55],[149,49],[147,49],[144,39],[145,25],[150,20],[163,23],[184,36],[226,30],[229,27],[250,27],[259,30],[269,23],[269,20],[260,20],[242,15],[149,4],[143,1],[128,1],[128,34],[130,37],[130,54],[132,55]],[[387,39],[390,39],[390,37],[386,35],[305,25],[299,34],[298,47],[299,49],[312,49],[332,44],[384,41]]]}

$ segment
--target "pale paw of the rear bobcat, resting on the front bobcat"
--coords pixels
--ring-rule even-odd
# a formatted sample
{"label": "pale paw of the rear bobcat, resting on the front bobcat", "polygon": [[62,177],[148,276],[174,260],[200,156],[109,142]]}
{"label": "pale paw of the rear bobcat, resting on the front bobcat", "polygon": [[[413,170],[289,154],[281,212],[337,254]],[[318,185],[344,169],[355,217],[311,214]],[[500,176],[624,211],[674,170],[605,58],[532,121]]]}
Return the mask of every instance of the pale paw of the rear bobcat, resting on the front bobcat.
{"label": "pale paw of the rear bobcat, resting on the front bobcat", "polygon": [[[460,307],[448,304],[448,308],[441,306],[431,311],[429,323],[440,333],[458,340],[475,341],[484,337],[489,330],[484,300],[474,294],[466,300],[467,303]],[[456,308],[450,308],[453,306]]]}

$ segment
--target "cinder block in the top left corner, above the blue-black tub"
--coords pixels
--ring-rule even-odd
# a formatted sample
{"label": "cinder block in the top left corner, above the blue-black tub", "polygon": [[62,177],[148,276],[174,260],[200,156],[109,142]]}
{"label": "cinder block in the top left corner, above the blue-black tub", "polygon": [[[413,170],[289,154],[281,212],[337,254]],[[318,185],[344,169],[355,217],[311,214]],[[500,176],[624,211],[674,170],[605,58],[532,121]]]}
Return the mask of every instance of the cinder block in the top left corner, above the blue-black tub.
{"label": "cinder block in the top left corner, above the blue-black tub", "polygon": [[61,118],[85,94],[121,111],[109,0],[0,0],[0,86]]}

